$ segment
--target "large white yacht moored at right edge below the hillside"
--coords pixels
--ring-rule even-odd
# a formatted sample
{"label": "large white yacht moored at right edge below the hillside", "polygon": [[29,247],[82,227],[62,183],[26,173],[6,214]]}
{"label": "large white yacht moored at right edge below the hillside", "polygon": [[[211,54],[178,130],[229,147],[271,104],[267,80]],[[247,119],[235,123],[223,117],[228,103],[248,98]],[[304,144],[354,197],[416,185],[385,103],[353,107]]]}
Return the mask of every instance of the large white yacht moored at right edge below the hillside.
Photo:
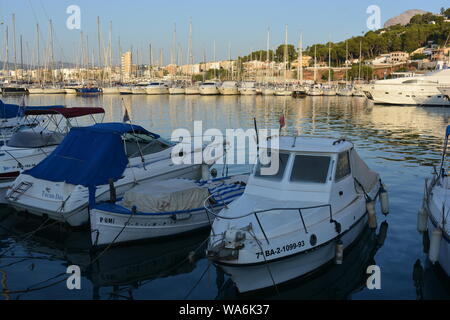
{"label": "large white yacht moored at right edge below the hillside", "polygon": [[438,63],[436,70],[423,76],[379,80],[361,89],[377,104],[440,105],[450,106],[450,101],[439,87],[450,85],[448,64]]}

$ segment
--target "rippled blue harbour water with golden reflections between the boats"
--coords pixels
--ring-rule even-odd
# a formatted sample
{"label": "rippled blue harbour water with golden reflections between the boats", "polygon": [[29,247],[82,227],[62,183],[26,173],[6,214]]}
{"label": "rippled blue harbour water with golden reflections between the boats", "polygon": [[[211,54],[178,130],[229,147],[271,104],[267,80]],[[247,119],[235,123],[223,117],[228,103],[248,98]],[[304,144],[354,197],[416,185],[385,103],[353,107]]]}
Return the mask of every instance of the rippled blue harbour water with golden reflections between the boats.
{"label": "rippled blue harbour water with golden reflections between the boats", "polygon": [[[21,97],[3,97],[22,103]],[[102,106],[105,121],[132,122],[163,137],[177,128],[276,128],[284,133],[346,137],[387,185],[389,225],[380,245],[371,231],[346,252],[344,264],[328,266],[308,279],[257,294],[237,294],[228,276],[204,257],[208,231],[184,238],[89,249],[88,230],[55,225],[36,232],[42,221],[0,208],[0,299],[449,299],[450,281],[430,265],[416,231],[424,179],[440,159],[450,109],[373,106],[361,97],[119,96],[83,98],[30,95],[27,105]],[[241,168],[232,168],[236,172]],[[81,290],[68,290],[67,266],[82,270]],[[366,269],[381,269],[381,289],[369,290]],[[0,292],[2,292],[0,290]]]}

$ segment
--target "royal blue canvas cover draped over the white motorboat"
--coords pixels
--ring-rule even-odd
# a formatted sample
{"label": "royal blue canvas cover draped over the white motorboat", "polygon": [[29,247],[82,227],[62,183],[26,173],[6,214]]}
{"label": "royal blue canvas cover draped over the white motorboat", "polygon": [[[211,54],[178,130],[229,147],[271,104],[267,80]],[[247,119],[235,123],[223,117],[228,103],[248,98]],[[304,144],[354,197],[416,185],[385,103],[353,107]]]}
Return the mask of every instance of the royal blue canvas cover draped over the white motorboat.
{"label": "royal blue canvas cover draped over the white motorboat", "polygon": [[85,187],[118,180],[128,164],[121,135],[148,133],[140,126],[103,123],[72,128],[63,142],[42,162],[27,170],[36,179]]}

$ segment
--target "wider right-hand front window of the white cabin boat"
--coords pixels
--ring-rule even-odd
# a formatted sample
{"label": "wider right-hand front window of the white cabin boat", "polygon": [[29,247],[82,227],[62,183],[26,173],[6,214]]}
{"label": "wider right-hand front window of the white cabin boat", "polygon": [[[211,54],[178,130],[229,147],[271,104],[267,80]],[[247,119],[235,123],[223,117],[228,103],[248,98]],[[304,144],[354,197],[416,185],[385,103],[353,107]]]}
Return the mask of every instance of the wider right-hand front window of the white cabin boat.
{"label": "wider right-hand front window of the white cabin boat", "polygon": [[292,168],[291,181],[325,183],[330,169],[330,157],[298,155]]}

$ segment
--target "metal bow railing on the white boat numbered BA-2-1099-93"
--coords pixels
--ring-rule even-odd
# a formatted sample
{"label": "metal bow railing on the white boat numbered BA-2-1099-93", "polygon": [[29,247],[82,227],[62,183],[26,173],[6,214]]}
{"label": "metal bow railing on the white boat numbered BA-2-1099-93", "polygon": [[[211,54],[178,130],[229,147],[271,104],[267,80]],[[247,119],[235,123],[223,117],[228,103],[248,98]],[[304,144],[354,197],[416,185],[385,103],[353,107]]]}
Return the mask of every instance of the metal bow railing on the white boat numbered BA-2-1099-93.
{"label": "metal bow railing on the white boat numbered BA-2-1099-93", "polygon": [[328,208],[328,212],[329,212],[329,218],[330,218],[330,223],[334,223],[335,225],[335,229],[337,233],[341,233],[341,224],[339,222],[337,222],[336,220],[333,219],[333,210],[331,209],[331,204],[322,204],[322,205],[317,205],[317,206],[308,206],[308,207],[297,207],[297,208],[271,208],[271,209],[264,209],[264,210],[255,210],[255,211],[251,211],[249,213],[246,213],[244,215],[241,216],[237,216],[237,217],[225,217],[225,216],[221,216],[220,214],[214,212],[213,210],[211,210],[211,197],[213,195],[210,195],[208,198],[206,198],[205,202],[204,202],[204,207],[205,210],[215,216],[216,218],[219,219],[224,219],[224,220],[236,220],[236,219],[242,219],[242,218],[246,218],[249,216],[254,215],[255,216],[255,220],[258,223],[258,226],[264,236],[264,239],[266,240],[267,244],[270,244],[269,238],[267,237],[267,234],[264,230],[264,227],[261,223],[261,220],[259,218],[260,214],[264,214],[264,213],[269,213],[269,212],[273,212],[273,211],[297,211],[299,214],[299,222],[301,223],[301,227],[303,227],[303,229],[305,230],[305,233],[308,234],[308,228],[306,227],[306,223],[305,223],[305,219],[303,216],[303,211],[305,210],[311,210],[311,209],[320,209],[320,208]]}

